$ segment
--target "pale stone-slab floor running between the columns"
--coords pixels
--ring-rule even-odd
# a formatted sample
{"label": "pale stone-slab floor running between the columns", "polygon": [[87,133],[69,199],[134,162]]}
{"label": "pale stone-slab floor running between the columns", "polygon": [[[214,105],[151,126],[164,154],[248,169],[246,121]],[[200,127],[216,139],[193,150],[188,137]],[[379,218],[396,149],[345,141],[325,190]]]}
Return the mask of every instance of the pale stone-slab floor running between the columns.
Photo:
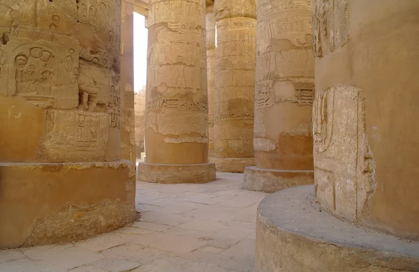
{"label": "pale stone-slab floor running between the columns", "polygon": [[207,184],[137,184],[133,225],[66,245],[0,250],[1,272],[253,271],[256,209],[243,174]]}

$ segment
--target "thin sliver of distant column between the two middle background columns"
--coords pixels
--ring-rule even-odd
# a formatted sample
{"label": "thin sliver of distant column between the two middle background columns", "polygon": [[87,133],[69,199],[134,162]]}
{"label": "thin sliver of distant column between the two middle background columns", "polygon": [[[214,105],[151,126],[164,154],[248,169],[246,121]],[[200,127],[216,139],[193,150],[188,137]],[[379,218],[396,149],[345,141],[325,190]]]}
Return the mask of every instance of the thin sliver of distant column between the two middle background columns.
{"label": "thin sliver of distant column between the two middle background columns", "polygon": [[214,156],[215,20],[214,6],[207,6],[208,156]]}

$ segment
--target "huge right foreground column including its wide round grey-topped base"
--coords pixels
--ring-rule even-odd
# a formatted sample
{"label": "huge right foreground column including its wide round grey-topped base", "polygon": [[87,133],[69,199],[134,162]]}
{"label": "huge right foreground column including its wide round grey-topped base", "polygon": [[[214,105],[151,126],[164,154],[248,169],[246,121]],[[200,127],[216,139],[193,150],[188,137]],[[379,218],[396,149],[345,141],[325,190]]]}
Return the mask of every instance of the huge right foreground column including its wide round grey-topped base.
{"label": "huge right foreground column including its wide round grey-topped base", "polygon": [[419,2],[313,11],[315,184],[263,199],[256,271],[418,271]]}

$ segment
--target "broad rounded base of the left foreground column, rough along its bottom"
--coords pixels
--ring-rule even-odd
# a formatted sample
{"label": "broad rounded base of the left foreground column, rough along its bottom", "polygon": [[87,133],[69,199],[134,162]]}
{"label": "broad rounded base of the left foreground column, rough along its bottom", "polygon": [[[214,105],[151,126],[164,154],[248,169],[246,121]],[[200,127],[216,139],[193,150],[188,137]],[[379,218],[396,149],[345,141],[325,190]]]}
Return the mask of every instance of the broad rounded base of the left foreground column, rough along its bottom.
{"label": "broad rounded base of the left foreground column, rough along its bottom", "polygon": [[135,165],[0,163],[0,248],[69,243],[133,222]]}

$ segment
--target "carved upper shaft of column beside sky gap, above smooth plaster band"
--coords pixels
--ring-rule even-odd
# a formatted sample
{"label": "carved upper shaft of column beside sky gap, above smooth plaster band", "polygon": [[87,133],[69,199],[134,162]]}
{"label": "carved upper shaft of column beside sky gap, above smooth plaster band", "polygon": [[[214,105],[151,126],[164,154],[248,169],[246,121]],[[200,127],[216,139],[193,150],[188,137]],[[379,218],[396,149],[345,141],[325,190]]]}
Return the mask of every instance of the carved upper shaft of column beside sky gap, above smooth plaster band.
{"label": "carved upper shaft of column beside sky gap, above smooth plaster band", "polygon": [[203,5],[198,0],[153,0],[149,6],[149,31],[156,35],[149,40],[147,56],[146,128],[184,141],[190,133],[208,135]]}

